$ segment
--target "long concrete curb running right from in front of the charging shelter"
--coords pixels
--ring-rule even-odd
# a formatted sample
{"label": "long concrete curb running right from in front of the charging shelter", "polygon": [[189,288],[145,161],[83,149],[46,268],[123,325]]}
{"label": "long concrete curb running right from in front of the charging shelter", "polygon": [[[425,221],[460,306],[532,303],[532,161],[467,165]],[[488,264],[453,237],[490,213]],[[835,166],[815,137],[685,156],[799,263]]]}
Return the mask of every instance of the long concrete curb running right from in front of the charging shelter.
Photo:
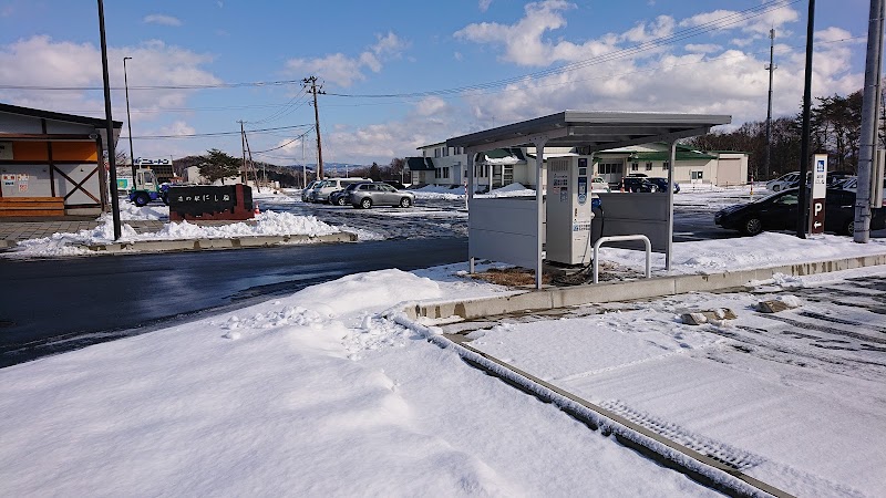
{"label": "long concrete curb running right from in front of the charging shelter", "polygon": [[588,303],[629,301],[740,288],[754,280],[769,280],[776,273],[802,277],[877,264],[886,264],[886,253],[722,273],[682,274],[628,282],[601,282],[570,288],[532,290],[524,293],[475,300],[416,303],[405,308],[403,313],[410,320],[452,317],[473,320],[514,312],[545,311]]}

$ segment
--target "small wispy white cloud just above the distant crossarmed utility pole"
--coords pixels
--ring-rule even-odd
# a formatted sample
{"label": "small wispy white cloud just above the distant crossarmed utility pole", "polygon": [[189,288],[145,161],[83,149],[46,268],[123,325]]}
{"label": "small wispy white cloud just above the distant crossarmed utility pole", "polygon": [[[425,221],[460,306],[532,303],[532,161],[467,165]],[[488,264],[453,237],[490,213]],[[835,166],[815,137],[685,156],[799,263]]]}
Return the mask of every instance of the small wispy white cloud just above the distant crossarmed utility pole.
{"label": "small wispy white cloud just above the distant crossarmed utility pole", "polygon": [[382,63],[400,58],[409,44],[393,32],[375,35],[375,43],[357,58],[349,58],[343,53],[329,54],[315,59],[290,59],[286,69],[290,73],[312,74],[324,81],[348,87],[358,81],[365,80],[363,69],[373,73],[382,70]]}

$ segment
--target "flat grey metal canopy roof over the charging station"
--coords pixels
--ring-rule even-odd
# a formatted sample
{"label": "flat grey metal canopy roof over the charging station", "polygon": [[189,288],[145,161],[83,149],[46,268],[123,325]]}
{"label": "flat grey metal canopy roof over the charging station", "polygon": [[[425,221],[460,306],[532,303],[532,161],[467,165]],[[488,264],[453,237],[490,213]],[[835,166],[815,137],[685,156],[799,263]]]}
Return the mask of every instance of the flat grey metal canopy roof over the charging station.
{"label": "flat grey metal canopy roof over the charging station", "polygon": [[499,147],[589,147],[590,151],[672,142],[703,135],[711,127],[729,124],[732,116],[714,114],[668,114],[564,111],[446,141],[449,147],[468,153]]}

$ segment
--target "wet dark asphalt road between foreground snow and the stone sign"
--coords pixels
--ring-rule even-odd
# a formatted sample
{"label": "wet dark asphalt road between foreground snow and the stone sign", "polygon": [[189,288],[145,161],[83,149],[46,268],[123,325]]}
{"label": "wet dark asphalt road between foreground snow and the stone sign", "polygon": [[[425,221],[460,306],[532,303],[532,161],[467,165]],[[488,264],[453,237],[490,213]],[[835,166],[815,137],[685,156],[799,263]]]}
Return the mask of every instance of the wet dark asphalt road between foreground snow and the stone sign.
{"label": "wet dark asphalt road between foreground snow and the stone sign", "polygon": [[0,367],[385,268],[465,261],[466,238],[0,260]]}

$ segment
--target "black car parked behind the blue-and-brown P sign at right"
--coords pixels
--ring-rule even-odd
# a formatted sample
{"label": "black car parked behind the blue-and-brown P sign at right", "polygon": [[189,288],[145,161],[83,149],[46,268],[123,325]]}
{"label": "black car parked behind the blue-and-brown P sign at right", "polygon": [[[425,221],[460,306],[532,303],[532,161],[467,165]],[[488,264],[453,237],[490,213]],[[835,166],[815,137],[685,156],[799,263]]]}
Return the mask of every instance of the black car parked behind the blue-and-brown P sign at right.
{"label": "black car parked behind the blue-and-brown P sign at right", "polygon": [[[808,198],[808,197],[807,197]],[[808,207],[805,209],[808,211]],[[800,189],[791,188],[749,204],[730,206],[714,215],[714,222],[723,228],[755,236],[763,230],[791,230],[796,228],[800,212]],[[870,229],[886,227],[886,209],[873,209]],[[835,234],[853,235],[855,230],[855,194],[828,188],[825,195],[824,229]]]}

